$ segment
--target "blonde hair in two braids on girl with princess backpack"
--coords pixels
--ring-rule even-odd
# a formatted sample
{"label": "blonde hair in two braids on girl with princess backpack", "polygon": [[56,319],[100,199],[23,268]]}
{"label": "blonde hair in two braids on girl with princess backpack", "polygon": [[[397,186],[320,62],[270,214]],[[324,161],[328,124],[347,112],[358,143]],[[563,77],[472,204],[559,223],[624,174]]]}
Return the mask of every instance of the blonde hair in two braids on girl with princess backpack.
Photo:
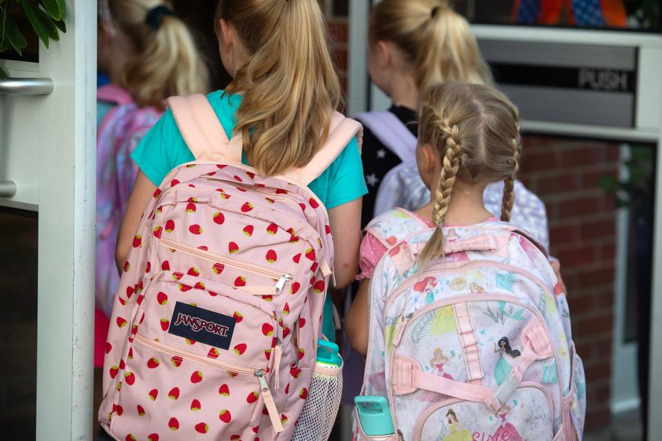
{"label": "blonde hair in two braids on girl with princess backpack", "polygon": [[419,143],[441,158],[432,220],[437,229],[419,256],[420,268],[443,254],[443,221],[456,179],[469,185],[503,181],[501,220],[510,220],[519,172],[519,112],[498,90],[480,84],[444,83],[425,91],[419,110]]}

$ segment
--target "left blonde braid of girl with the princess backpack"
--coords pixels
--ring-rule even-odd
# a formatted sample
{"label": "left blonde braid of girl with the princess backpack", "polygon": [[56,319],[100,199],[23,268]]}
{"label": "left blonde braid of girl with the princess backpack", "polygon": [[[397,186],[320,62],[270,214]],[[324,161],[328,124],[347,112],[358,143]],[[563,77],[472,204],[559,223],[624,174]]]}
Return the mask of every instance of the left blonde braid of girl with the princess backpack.
{"label": "left blonde braid of girl with the princess backpack", "polygon": [[443,219],[448,206],[450,205],[450,197],[455,183],[455,177],[460,168],[460,156],[462,147],[459,144],[459,128],[457,124],[450,126],[447,121],[439,126],[444,133],[445,139],[445,153],[441,159],[442,168],[437,190],[434,191],[434,208],[432,210],[432,221],[437,224],[437,230],[434,231],[432,237],[425,245],[420,255],[420,266],[423,269],[428,265],[432,257],[443,254]]}

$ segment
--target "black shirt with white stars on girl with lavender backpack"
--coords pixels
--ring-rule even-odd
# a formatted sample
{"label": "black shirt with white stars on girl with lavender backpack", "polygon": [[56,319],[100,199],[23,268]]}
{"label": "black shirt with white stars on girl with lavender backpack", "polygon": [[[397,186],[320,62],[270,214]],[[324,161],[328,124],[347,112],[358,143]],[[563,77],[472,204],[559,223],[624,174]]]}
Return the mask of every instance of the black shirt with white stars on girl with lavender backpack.
{"label": "black shirt with white stars on girl with lavender backpack", "polygon": [[[393,105],[388,109],[397,116],[403,124],[407,125],[414,136],[418,136],[418,125],[410,124],[417,121],[416,111],[408,107]],[[398,155],[381,144],[369,128],[363,128],[363,173],[365,183],[368,184],[368,194],[363,196],[363,212],[361,213],[361,228],[368,225],[374,217],[374,201],[382,179],[388,171],[401,163]]]}

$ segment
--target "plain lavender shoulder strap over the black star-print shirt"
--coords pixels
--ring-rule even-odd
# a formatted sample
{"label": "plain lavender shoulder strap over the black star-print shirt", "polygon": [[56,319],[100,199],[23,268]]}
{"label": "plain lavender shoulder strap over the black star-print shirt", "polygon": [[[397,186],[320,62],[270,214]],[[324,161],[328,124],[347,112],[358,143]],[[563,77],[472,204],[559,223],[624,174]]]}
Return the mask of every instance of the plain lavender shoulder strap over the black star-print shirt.
{"label": "plain lavender shoulder strap over the black star-print shirt", "polygon": [[363,112],[357,115],[357,119],[370,129],[381,144],[398,155],[401,161],[415,161],[417,139],[392,112]]}

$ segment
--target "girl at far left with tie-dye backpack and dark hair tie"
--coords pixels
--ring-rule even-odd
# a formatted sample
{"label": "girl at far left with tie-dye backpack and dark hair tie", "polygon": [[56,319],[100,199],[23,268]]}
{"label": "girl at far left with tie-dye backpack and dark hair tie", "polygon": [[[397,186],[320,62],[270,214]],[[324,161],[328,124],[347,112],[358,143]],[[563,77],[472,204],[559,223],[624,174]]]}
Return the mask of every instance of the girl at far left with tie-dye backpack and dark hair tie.
{"label": "girl at far left with tie-dye backpack and dark hair tie", "polygon": [[[119,285],[114,264],[117,232],[137,172],[130,154],[163,114],[165,98],[207,90],[208,74],[190,31],[170,3],[99,0],[98,10],[97,65],[109,81],[97,89],[94,366],[101,368],[106,316]],[[100,383],[100,373],[96,377]],[[94,397],[101,398],[101,393]]]}

